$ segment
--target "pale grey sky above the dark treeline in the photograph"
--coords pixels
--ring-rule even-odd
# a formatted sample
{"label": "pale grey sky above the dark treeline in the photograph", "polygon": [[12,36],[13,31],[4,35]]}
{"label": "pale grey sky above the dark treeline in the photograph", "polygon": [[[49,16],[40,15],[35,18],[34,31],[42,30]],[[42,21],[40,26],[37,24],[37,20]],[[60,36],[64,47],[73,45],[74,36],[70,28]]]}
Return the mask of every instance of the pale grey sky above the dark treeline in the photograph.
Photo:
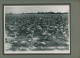
{"label": "pale grey sky above the dark treeline in the photograph", "polygon": [[5,13],[69,12],[69,5],[4,6]]}

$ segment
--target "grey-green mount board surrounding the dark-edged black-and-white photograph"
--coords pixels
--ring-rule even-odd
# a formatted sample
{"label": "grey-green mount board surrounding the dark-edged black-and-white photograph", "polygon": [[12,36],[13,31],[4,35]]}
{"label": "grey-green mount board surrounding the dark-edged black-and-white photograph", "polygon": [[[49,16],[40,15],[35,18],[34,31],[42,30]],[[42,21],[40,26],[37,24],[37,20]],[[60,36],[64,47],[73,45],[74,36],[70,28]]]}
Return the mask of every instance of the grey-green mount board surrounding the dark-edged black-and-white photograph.
{"label": "grey-green mount board surrounding the dark-edged black-and-white photograph", "polygon": [[[71,55],[3,55],[2,4],[70,3]],[[80,58],[80,0],[0,0],[0,58]]]}

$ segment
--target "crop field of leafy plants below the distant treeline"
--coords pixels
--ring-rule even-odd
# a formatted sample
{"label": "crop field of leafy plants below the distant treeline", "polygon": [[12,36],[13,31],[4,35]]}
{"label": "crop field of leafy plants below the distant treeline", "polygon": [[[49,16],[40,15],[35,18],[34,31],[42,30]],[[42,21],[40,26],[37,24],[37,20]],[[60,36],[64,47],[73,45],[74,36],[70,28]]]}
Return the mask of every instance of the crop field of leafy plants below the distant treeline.
{"label": "crop field of leafy plants below the distant treeline", "polygon": [[67,13],[5,14],[6,51],[69,50]]}

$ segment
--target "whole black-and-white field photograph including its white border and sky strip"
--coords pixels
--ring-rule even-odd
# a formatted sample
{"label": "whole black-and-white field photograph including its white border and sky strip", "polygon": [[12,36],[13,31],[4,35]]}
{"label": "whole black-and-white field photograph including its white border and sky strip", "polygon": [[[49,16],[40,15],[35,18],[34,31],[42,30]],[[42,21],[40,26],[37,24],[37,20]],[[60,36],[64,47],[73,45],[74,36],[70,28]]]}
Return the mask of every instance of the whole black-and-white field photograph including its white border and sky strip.
{"label": "whole black-and-white field photograph including its white border and sky strip", "polygon": [[4,5],[4,54],[69,54],[69,5]]}

